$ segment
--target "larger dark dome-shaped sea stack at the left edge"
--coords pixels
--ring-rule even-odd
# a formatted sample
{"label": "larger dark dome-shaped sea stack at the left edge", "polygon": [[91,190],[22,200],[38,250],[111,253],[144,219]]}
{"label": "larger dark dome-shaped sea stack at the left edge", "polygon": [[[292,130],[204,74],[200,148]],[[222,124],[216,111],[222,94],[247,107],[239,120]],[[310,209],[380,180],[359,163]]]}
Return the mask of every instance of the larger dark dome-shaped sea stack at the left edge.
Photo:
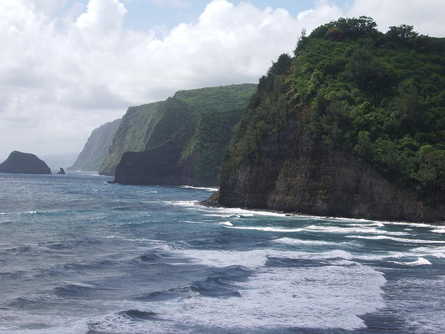
{"label": "larger dark dome-shaped sea stack at the left edge", "polygon": [[51,174],[51,169],[35,154],[13,151],[0,164],[0,173]]}

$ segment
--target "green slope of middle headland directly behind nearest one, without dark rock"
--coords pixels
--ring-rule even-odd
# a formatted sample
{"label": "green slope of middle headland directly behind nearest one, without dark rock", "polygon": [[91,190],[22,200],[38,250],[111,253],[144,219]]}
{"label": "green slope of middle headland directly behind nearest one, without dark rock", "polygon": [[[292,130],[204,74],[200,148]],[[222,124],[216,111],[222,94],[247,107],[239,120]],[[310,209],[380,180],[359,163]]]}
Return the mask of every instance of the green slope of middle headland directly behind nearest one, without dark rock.
{"label": "green slope of middle headland directly behind nearest one, without dark rock", "polygon": [[147,149],[188,133],[181,161],[193,156],[195,178],[215,182],[232,128],[240,120],[256,88],[255,84],[242,84],[180,90],[167,100],[170,106],[152,130]]}

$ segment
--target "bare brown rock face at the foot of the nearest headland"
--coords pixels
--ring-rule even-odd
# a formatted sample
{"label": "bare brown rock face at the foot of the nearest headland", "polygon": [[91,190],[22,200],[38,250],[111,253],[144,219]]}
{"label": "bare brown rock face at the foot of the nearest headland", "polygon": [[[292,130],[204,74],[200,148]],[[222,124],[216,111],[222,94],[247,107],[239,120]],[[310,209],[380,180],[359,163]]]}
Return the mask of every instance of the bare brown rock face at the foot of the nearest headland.
{"label": "bare brown rock face at the foot of the nearest headland", "polygon": [[211,204],[385,221],[445,222],[445,211],[425,207],[345,150],[315,143],[296,118],[270,134],[259,155],[245,157],[223,180]]}

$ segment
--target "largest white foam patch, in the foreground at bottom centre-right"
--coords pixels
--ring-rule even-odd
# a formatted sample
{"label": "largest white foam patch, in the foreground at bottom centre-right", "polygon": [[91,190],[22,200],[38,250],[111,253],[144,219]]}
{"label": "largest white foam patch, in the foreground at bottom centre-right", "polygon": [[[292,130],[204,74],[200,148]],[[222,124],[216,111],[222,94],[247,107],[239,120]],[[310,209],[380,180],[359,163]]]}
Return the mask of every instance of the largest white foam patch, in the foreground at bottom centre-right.
{"label": "largest white foam patch, in the foreground at bottom centre-right", "polygon": [[193,298],[170,319],[213,328],[353,330],[365,326],[360,315],[385,307],[382,273],[357,264],[268,268],[237,285],[241,297]]}

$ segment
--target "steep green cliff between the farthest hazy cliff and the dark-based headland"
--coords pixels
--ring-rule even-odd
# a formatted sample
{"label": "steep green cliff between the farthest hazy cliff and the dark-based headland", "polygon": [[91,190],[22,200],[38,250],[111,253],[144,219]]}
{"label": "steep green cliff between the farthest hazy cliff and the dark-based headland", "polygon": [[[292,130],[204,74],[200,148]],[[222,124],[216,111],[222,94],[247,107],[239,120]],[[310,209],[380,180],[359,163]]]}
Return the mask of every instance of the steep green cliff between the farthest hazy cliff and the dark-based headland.
{"label": "steep green cliff between the farthest hazy cliff and the dark-based headland", "polygon": [[163,102],[130,106],[122,117],[122,121],[115,132],[113,141],[99,168],[101,175],[114,175],[116,166],[124,152],[139,152],[145,148],[149,136],[150,123],[156,117]]}

